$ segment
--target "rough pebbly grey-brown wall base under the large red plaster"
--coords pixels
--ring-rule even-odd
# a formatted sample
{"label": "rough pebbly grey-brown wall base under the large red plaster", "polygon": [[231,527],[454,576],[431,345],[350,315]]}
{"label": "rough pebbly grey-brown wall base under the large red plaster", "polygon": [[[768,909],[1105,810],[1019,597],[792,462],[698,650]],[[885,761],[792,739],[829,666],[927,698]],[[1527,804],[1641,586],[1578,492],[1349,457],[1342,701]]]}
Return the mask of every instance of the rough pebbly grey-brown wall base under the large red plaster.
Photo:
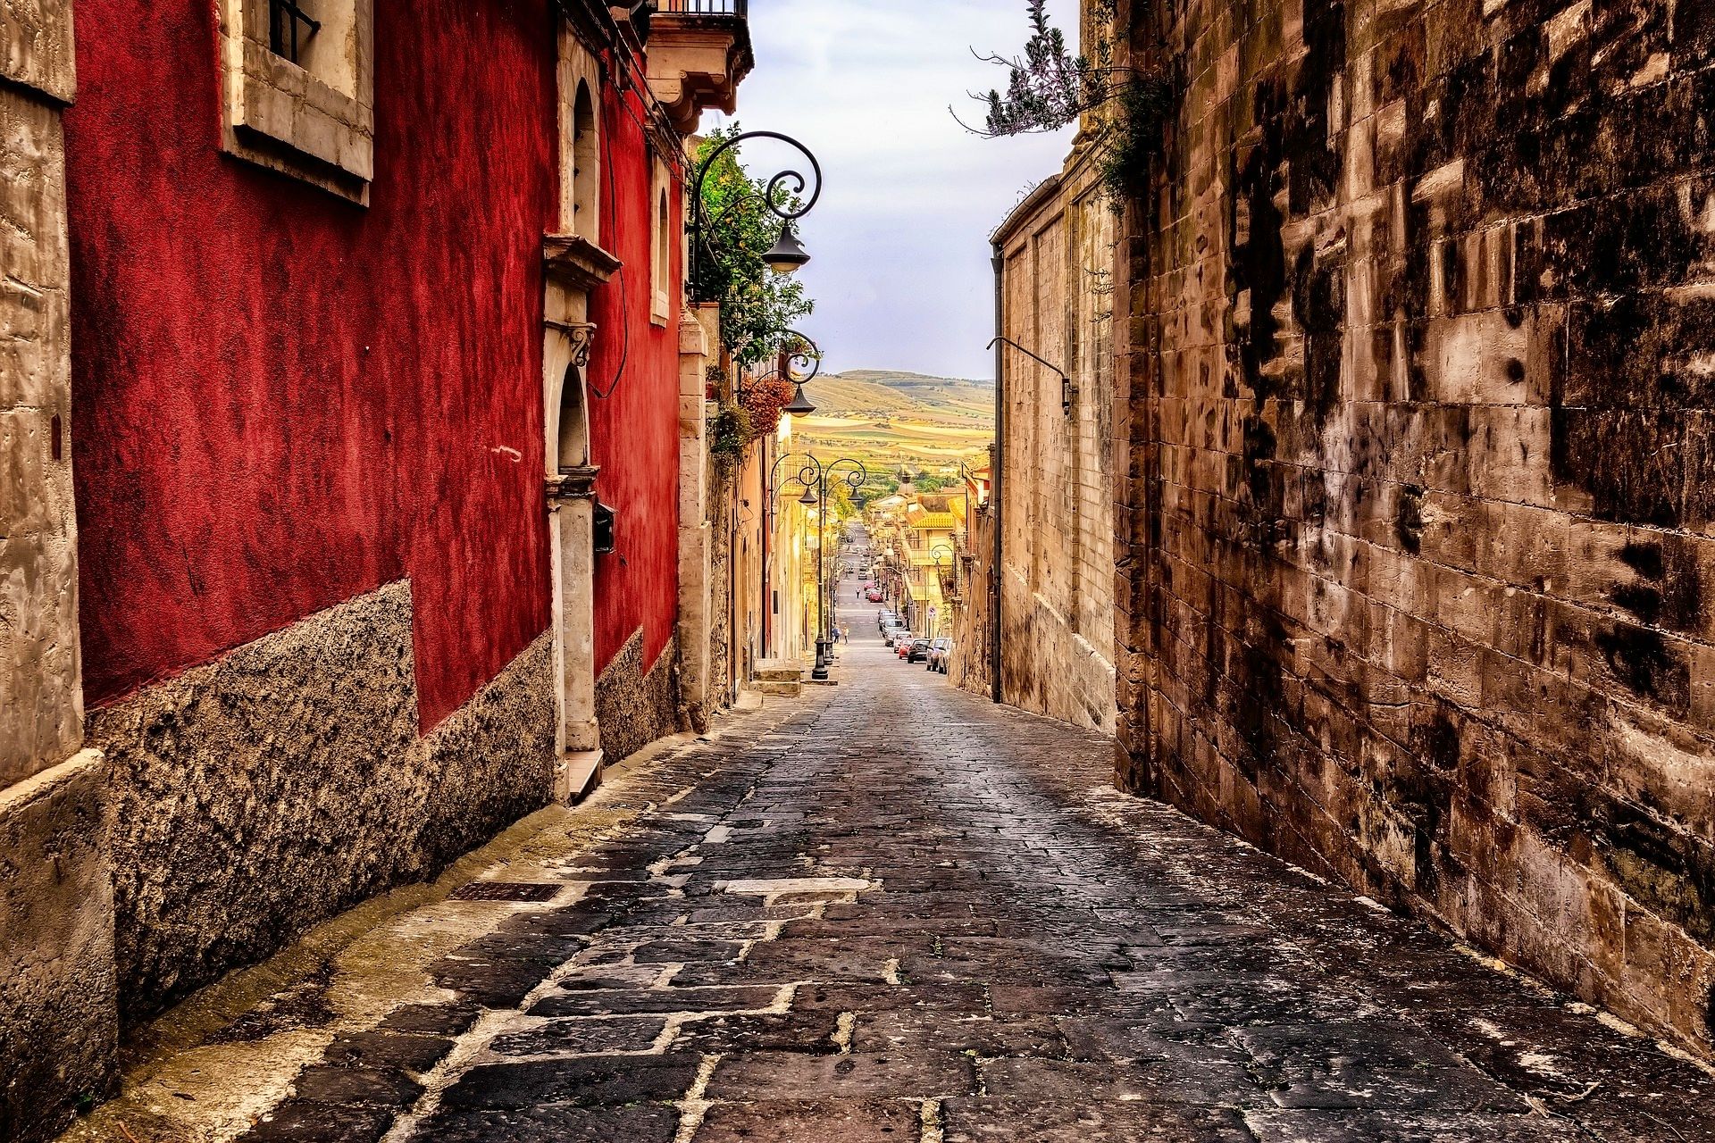
{"label": "rough pebbly grey-brown wall base under the large red plaster", "polygon": [[120,1004],[142,1020],[547,804],[552,641],[417,735],[405,583],[94,713]]}

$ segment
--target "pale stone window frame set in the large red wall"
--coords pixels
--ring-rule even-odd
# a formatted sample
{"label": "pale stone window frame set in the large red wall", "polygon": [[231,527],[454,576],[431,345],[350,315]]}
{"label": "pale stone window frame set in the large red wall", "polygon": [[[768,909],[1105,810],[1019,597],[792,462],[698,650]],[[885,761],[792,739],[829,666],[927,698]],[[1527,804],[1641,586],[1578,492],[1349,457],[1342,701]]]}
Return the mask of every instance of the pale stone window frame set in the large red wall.
{"label": "pale stone window frame set in the large red wall", "polygon": [[305,65],[274,55],[269,0],[220,0],[221,149],[360,206],[376,177],[376,2],[317,0]]}

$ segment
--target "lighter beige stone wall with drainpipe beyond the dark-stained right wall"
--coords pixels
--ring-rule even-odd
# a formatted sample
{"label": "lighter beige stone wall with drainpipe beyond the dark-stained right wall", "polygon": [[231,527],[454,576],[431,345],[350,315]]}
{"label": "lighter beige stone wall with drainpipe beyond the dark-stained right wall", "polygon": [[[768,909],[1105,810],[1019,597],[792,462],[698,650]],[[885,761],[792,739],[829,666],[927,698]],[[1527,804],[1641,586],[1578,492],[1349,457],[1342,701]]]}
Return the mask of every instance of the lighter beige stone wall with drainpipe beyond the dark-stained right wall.
{"label": "lighter beige stone wall with drainpipe beyond the dark-stained right wall", "polygon": [[1002,694],[1113,730],[1113,242],[1084,149],[996,231],[1005,334]]}

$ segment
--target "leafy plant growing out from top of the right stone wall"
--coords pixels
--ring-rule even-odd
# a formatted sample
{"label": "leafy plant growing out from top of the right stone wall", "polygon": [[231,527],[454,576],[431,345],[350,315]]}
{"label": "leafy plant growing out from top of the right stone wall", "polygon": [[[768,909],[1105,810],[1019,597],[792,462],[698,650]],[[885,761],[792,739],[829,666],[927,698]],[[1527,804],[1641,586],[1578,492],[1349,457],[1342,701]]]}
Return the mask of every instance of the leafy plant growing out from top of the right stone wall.
{"label": "leafy plant growing out from top of the right stone wall", "polygon": [[1074,55],[1065,34],[1050,22],[1048,0],[1026,0],[1026,7],[1031,38],[1024,53],[978,55],[1007,69],[1005,93],[998,87],[972,93],[986,106],[984,125],[959,123],[972,134],[1005,139],[1060,130],[1087,115],[1103,183],[1110,199],[1120,202],[1142,185],[1149,159],[1161,151],[1171,86],[1158,72],[1115,65],[1115,0],[1096,0],[1086,55]]}

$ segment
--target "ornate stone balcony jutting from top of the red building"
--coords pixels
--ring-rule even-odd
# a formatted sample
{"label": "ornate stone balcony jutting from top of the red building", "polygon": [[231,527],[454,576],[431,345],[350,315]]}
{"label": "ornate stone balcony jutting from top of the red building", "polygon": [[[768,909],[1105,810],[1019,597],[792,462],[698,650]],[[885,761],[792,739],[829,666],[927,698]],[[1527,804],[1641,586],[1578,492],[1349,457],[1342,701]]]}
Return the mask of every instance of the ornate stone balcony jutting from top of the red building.
{"label": "ornate stone balcony jutting from top of the red building", "polygon": [[659,0],[648,86],[681,135],[695,134],[708,108],[737,110],[739,84],[755,63],[749,0]]}

